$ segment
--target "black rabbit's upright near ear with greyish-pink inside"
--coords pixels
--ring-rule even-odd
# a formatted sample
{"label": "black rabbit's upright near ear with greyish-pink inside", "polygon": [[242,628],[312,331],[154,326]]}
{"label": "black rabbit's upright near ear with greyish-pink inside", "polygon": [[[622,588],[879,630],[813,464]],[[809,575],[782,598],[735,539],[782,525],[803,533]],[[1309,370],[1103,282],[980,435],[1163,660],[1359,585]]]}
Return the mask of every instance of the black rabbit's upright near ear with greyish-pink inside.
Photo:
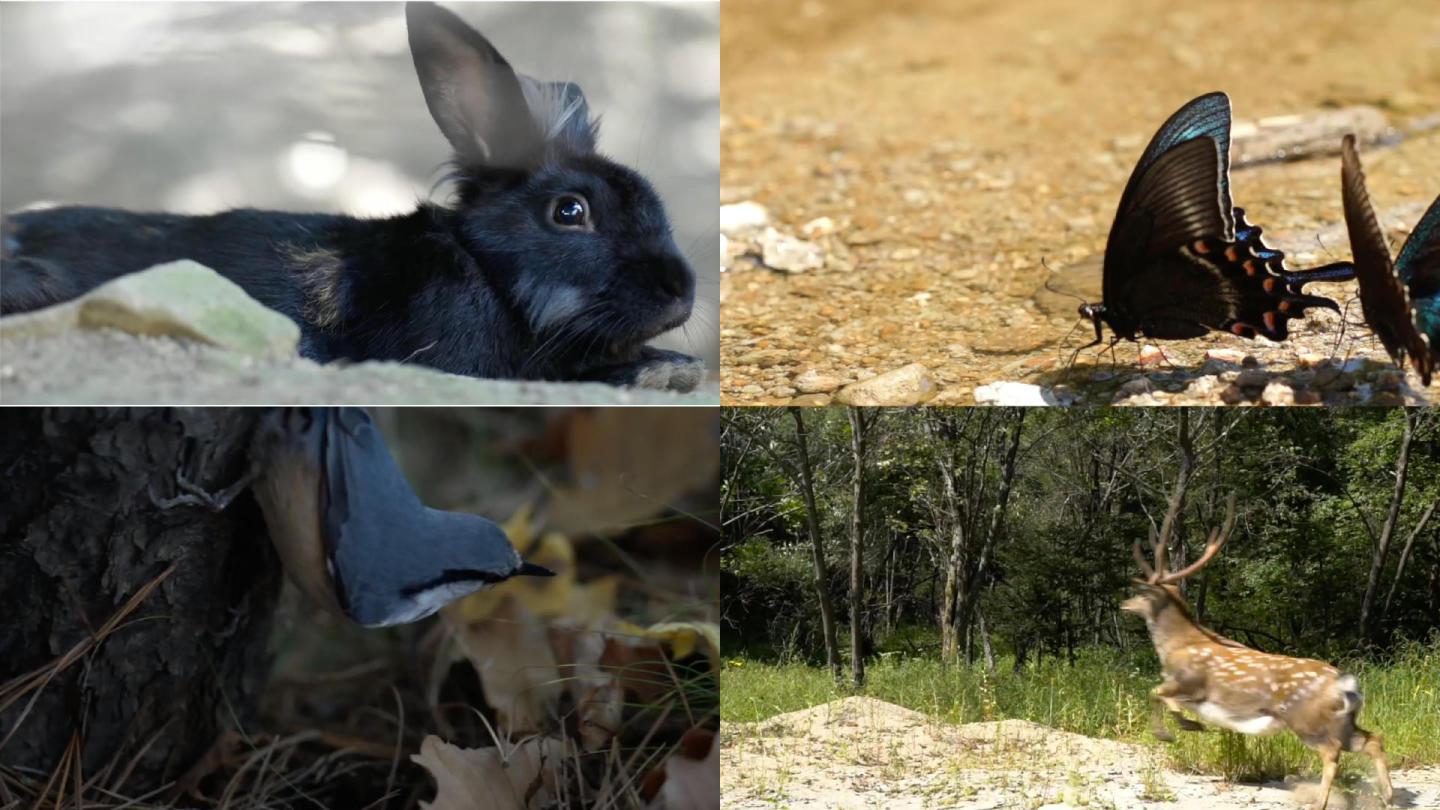
{"label": "black rabbit's upright near ear with greyish-pink inside", "polygon": [[433,3],[406,3],[410,55],[431,117],[467,166],[524,169],[543,153],[514,69],[475,29]]}

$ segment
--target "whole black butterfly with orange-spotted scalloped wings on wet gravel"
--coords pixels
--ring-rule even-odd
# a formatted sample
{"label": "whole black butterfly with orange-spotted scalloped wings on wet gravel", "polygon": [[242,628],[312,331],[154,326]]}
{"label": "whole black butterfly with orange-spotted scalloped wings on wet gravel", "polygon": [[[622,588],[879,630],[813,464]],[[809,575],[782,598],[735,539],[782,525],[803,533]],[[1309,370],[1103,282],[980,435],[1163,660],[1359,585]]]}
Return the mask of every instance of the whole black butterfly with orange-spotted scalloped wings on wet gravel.
{"label": "whole black butterfly with orange-spotted scalloped wings on wet gravel", "polygon": [[1080,316],[1116,337],[1178,340],[1215,329],[1243,337],[1284,340],[1290,319],[1308,307],[1339,310],[1305,295],[1310,281],[1346,281],[1349,262],[1289,271],[1284,254],[1267,248],[1260,226],[1230,203],[1230,97],[1205,94],[1181,107],[1151,138],[1104,245],[1103,303]]}

